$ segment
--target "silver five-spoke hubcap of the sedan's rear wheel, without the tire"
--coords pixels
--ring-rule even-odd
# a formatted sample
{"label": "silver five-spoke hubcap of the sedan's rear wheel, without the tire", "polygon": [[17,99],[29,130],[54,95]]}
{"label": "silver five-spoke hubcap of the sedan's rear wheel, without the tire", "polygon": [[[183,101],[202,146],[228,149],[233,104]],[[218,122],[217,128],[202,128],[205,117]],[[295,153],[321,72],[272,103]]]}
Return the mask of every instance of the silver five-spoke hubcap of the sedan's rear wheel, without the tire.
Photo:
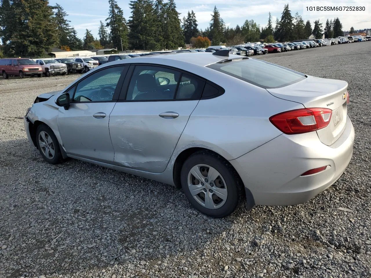
{"label": "silver five-spoke hubcap of the sedan's rear wheel, without the tire", "polygon": [[207,164],[197,164],[188,173],[188,189],[193,198],[208,209],[218,209],[228,197],[226,182],[221,174]]}

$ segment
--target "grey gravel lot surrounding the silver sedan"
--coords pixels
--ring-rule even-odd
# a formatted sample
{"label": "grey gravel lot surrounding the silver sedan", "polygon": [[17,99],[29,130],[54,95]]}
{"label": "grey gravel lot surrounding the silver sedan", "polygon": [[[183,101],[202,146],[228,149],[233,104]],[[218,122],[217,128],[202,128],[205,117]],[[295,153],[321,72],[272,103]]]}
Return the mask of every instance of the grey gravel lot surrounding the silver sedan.
{"label": "grey gravel lot surrounding the silver sedan", "polygon": [[311,201],[226,219],[168,185],[77,160],[47,164],[23,115],[78,75],[1,79],[0,277],[371,277],[371,42],[258,58],[346,80],[355,149]]}

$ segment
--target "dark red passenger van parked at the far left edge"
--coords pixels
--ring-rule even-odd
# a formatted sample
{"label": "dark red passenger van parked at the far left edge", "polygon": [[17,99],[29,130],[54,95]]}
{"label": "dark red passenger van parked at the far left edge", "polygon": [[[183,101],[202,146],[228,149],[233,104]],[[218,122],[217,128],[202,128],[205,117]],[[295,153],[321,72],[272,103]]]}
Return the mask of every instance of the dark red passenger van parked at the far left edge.
{"label": "dark red passenger van parked at the far left edge", "polygon": [[14,58],[14,59],[0,59],[0,72],[4,79],[9,76],[42,76],[42,67],[37,65],[32,59]]}

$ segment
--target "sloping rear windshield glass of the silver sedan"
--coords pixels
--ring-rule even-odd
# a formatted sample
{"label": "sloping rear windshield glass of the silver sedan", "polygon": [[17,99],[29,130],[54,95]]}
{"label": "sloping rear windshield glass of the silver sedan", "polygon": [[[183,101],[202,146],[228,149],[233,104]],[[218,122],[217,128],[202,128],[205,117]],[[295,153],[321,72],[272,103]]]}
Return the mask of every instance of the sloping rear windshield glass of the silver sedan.
{"label": "sloping rear windshield glass of the silver sedan", "polygon": [[214,63],[207,67],[265,89],[285,87],[306,78],[302,73],[256,59]]}

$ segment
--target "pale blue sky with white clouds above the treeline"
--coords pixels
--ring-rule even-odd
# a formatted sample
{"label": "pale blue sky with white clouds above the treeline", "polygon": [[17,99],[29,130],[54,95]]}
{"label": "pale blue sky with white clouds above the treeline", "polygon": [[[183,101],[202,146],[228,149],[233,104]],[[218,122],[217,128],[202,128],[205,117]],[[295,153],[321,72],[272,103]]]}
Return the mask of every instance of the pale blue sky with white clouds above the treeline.
{"label": "pale blue sky with white clouds above the treeline", "polygon": [[[124,16],[128,20],[130,17],[130,9],[128,6],[128,0],[117,0],[119,6],[124,11]],[[341,1],[342,3],[371,3],[370,1],[358,1],[350,0]],[[68,20],[71,21],[71,25],[75,27],[80,37],[84,36],[85,29],[92,31],[95,37],[98,37],[98,26],[99,21],[105,21],[108,16],[108,0],[59,0],[50,1],[50,4],[60,4],[65,11],[69,14]],[[332,0],[326,2],[315,0],[315,1],[304,1],[304,0],[175,0],[177,4],[177,10],[181,13],[180,18],[183,18],[188,12],[188,10],[194,10],[196,13],[196,19],[198,27],[205,29],[209,26],[209,21],[211,19],[211,12],[213,11],[214,5],[220,11],[220,15],[224,22],[230,27],[240,26],[246,19],[253,19],[260,27],[265,27],[268,20],[268,12],[272,14],[272,21],[275,22],[276,18],[280,19],[283,6],[289,3],[292,15],[299,12],[303,16],[304,21],[310,20],[312,27],[313,21],[319,19],[323,25],[325,25],[326,19],[333,19],[334,17],[339,17],[341,23],[343,24],[344,30],[349,30],[351,26],[355,29],[371,28],[371,14],[363,15],[317,15],[317,16],[304,16],[303,15],[303,4],[312,5],[313,3],[326,3],[326,5],[331,3],[338,3]],[[228,3],[228,4],[227,4]],[[371,8],[370,8],[371,9]]]}

